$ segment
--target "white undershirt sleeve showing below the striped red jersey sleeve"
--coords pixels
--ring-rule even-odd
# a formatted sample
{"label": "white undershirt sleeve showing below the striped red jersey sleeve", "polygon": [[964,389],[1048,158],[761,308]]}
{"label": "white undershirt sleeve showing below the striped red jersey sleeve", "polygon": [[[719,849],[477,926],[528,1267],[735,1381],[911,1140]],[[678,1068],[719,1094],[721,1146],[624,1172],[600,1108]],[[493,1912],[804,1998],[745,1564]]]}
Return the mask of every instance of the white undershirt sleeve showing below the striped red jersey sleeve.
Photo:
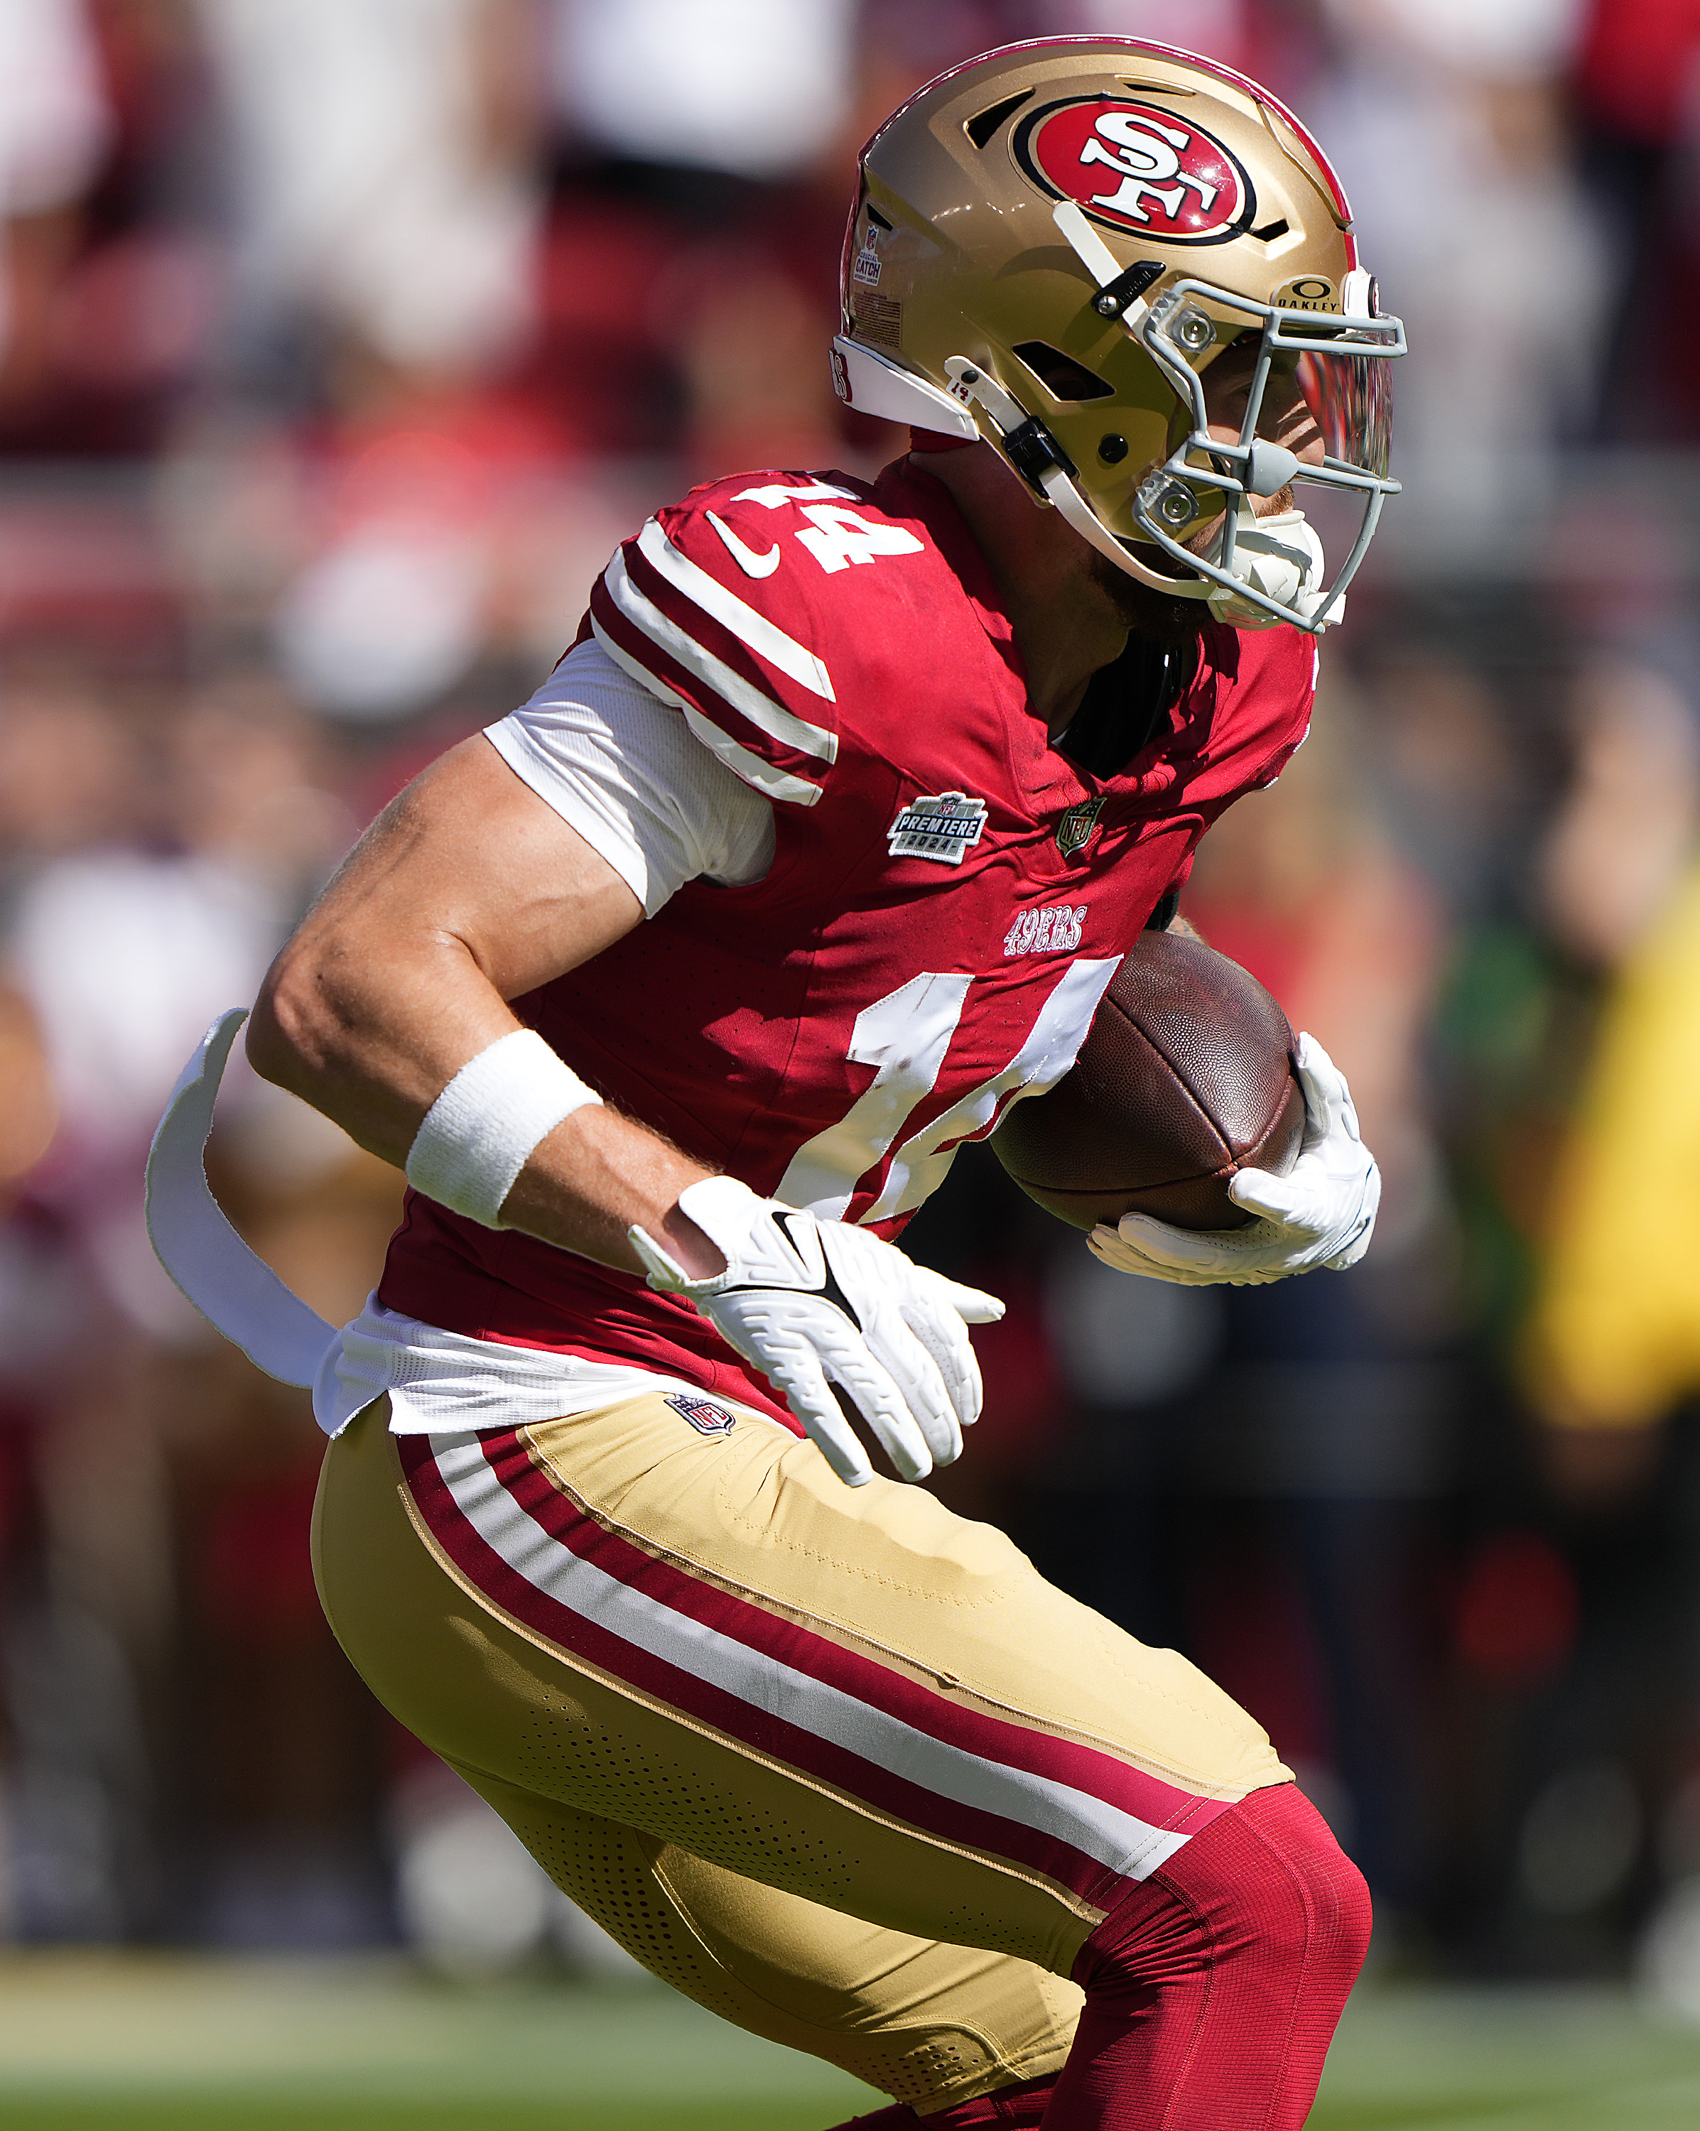
{"label": "white undershirt sleeve showing below the striped red jersey sleeve", "polygon": [[686,880],[761,880],[773,803],[716,761],[677,710],[577,644],[486,739],[620,874],[643,914]]}

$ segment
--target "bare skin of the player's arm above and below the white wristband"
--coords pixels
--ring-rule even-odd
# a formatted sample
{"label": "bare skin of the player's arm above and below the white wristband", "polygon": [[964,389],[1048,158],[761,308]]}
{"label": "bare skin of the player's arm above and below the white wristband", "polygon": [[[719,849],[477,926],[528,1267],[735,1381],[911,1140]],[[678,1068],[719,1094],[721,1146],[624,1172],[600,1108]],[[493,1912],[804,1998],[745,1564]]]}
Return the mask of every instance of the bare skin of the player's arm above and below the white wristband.
{"label": "bare skin of the player's arm above and below the white wristband", "polygon": [[[520,1021],[509,999],[590,961],[641,904],[481,735],[394,799],[277,957],[249,1021],[264,1078],[407,1164],[447,1083]],[[663,1236],[694,1274],[724,1259],[677,1210],[709,1172],[605,1106],[533,1151],[503,1223],[628,1272],[626,1230]]]}

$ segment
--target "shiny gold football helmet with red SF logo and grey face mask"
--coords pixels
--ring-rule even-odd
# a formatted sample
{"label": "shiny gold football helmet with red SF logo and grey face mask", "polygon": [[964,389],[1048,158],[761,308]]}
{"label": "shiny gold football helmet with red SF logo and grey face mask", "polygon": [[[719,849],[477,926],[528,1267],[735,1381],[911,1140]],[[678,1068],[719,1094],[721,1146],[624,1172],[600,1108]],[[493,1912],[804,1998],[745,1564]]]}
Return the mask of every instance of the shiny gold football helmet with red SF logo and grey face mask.
{"label": "shiny gold football helmet with red SF logo and grey face mask", "polygon": [[[1340,618],[1400,486],[1402,354],[1327,158],[1212,60],[1121,36],[1006,45],[929,81],[863,149],[839,396],[986,439],[1129,578],[1236,627]],[[1225,358],[1238,435],[1221,394],[1216,435],[1206,416]],[[1293,482],[1359,505],[1327,586]],[[1278,507],[1259,518],[1253,497]]]}

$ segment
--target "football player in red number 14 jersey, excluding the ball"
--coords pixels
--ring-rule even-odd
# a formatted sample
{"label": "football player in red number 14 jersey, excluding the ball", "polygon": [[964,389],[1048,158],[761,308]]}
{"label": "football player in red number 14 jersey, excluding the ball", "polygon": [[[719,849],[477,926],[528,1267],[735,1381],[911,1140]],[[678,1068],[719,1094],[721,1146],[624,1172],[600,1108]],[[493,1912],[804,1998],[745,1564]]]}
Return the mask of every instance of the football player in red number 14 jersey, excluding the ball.
{"label": "football player in red number 14 jersey, excluding the ball", "polygon": [[[1299,2125],[1363,1956],[1268,1737],[905,1485],[999,1304],[895,1238],[1304,739],[1400,352],[1251,81],[1123,38],[942,75],[861,158],[833,345],[910,456],[658,511],[266,980],[256,1068],[413,1187],[366,1311],[332,1336],[202,1195],[239,1016],[162,1125],[162,1255],[315,1379],[354,1664],[645,1967],[886,2131]],[[1357,509],[1334,575],[1314,488]],[[1308,1040],[1302,1080],[1246,1227],[1097,1253],[1355,1262],[1374,1161]]]}

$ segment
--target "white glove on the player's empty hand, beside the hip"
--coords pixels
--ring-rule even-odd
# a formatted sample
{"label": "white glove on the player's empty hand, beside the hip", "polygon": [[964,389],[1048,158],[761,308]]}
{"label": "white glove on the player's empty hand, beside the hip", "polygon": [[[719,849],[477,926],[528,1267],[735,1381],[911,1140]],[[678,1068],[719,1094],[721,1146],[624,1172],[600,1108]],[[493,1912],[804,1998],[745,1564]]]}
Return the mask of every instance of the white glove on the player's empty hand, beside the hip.
{"label": "white glove on the player's empty hand, beside the hip", "polygon": [[650,1287],[684,1296],[756,1364],[848,1487],[873,1479],[873,1466],[835,1383],[903,1479],[961,1455],[982,1396],[965,1325],[995,1323],[1003,1315],[995,1296],[916,1266],[865,1227],[758,1198],[735,1176],[688,1185],[680,1213],[726,1270],[692,1281],[654,1236],[631,1227]]}

